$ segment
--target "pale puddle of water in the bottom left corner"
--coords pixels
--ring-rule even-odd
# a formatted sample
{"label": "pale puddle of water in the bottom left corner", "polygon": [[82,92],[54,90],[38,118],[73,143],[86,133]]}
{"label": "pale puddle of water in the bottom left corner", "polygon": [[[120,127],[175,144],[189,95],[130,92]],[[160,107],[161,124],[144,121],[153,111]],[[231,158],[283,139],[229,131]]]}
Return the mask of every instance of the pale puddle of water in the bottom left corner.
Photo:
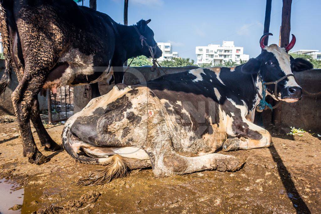
{"label": "pale puddle of water in the bottom left corner", "polygon": [[20,213],[20,210],[8,210],[16,204],[22,204],[24,189],[13,191],[18,184],[0,179],[0,213]]}

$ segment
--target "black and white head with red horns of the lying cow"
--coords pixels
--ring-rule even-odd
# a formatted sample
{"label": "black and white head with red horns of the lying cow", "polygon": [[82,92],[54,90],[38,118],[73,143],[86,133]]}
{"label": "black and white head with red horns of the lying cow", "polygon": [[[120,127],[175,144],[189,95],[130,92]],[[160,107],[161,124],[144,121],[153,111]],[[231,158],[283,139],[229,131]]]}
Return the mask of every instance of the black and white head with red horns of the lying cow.
{"label": "black and white head with red horns of the lying cow", "polygon": [[311,69],[313,65],[301,58],[293,59],[288,54],[288,51],[296,41],[293,34],[291,42],[285,48],[281,48],[276,44],[265,46],[263,44],[264,40],[269,35],[272,35],[272,33],[266,33],[260,39],[262,53],[245,63],[241,70],[243,73],[257,73],[261,81],[264,82],[278,81],[276,87],[275,84],[266,85],[267,94],[276,100],[296,102],[302,97],[302,88],[295,81],[292,71]]}

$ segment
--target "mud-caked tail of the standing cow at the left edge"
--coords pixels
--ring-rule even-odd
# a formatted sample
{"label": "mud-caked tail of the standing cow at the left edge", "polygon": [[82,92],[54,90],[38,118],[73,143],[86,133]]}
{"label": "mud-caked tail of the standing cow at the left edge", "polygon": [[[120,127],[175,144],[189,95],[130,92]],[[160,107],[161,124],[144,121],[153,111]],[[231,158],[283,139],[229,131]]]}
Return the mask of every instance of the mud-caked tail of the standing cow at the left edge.
{"label": "mud-caked tail of the standing cow at the left edge", "polygon": [[9,27],[7,13],[4,7],[4,1],[0,0],[0,31],[2,36],[2,45],[4,53],[5,70],[0,79],[0,94],[2,94],[10,83],[12,56],[10,51]]}

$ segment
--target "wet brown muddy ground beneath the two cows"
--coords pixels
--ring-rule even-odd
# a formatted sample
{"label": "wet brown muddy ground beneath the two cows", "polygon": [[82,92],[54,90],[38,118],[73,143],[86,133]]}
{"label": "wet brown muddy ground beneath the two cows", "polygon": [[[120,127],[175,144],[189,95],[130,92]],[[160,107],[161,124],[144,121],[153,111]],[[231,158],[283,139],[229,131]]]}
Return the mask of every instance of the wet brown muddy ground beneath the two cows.
{"label": "wet brown muddy ground beneath the two cows", "polygon": [[[61,143],[62,129],[48,132]],[[45,152],[35,133],[51,160],[32,165],[22,157],[17,123],[2,123],[0,179],[23,188],[22,213],[321,213],[321,139],[287,136],[288,128],[270,130],[272,147],[229,152],[248,157],[237,172],[155,178],[151,169],[135,170],[122,180],[80,188],[74,182],[102,166],[75,162],[63,150]]]}

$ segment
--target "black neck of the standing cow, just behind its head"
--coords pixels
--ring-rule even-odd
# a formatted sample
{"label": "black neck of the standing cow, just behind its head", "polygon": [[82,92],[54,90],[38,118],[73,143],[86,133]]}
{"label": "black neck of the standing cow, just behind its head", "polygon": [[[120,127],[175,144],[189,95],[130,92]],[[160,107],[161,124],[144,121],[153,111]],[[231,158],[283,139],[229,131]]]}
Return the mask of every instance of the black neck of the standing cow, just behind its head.
{"label": "black neck of the standing cow, just behind its head", "polygon": [[117,30],[120,36],[116,39],[117,50],[115,51],[125,55],[123,56],[125,57],[124,60],[141,55],[139,53],[141,49],[141,47],[139,47],[139,35],[134,27],[118,24]]}

